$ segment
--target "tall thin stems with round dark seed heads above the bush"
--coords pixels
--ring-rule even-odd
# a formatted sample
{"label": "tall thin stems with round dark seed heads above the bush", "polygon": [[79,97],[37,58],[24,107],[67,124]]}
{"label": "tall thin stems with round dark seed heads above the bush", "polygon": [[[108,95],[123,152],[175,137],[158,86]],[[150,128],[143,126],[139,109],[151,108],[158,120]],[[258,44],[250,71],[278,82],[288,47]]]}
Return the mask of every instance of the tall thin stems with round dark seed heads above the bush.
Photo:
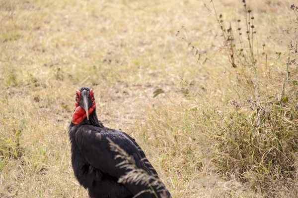
{"label": "tall thin stems with round dark seed heads above the bush", "polygon": [[[235,75],[240,84],[243,82],[247,85],[246,88],[254,93],[253,98],[256,98],[259,95],[259,84],[258,84],[258,68],[257,68],[257,58],[259,56],[259,50],[256,50],[256,27],[255,27],[255,17],[250,8],[248,8],[246,1],[242,0],[243,5],[243,14],[244,14],[244,32],[241,27],[241,19],[237,19],[236,23],[224,21],[224,14],[218,13],[216,6],[213,0],[210,1],[211,6],[208,6],[207,3],[203,0],[203,3],[206,9],[215,16],[217,23],[220,26],[220,35],[219,33],[214,33],[214,30],[211,30],[212,34],[215,34],[216,40],[220,44],[219,50],[221,50],[224,55],[227,57],[228,62],[234,68]],[[243,24],[242,24],[243,25]],[[181,32],[178,31],[176,36],[181,40],[187,43],[187,48],[191,47],[193,56],[197,59],[199,64],[202,66],[206,63],[206,58],[203,63],[200,61],[202,54],[197,47],[192,45],[192,42],[189,41],[186,28],[182,26],[182,30],[185,31],[185,36],[181,36]],[[265,44],[262,45],[263,52],[261,55],[265,55],[264,48]],[[258,48],[257,48],[258,49]],[[280,55],[280,53],[279,53]],[[259,57],[258,57],[259,58]],[[267,54],[266,54],[267,60]],[[267,62],[267,61],[266,61]]]}

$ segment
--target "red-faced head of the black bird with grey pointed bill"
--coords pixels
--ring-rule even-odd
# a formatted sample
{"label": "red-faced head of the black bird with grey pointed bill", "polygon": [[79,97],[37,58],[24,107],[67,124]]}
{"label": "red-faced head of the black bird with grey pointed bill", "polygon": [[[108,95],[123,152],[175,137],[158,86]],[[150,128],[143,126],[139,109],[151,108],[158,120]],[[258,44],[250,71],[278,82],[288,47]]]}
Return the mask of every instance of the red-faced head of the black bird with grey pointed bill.
{"label": "red-faced head of the black bird with grey pointed bill", "polygon": [[89,115],[95,108],[95,99],[93,90],[89,87],[81,87],[76,90],[75,107],[73,114],[73,123],[75,125],[81,123],[83,119],[89,120]]}

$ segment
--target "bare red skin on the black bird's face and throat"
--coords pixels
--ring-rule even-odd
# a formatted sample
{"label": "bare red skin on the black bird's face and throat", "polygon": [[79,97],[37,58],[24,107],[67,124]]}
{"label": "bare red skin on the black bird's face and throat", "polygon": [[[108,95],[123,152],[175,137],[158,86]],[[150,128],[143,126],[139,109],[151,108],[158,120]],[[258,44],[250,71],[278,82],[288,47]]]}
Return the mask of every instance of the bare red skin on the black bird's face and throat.
{"label": "bare red skin on the black bird's face and throat", "polygon": [[[78,105],[78,101],[80,100],[80,92],[79,90],[76,90],[76,94],[78,97],[76,97],[75,101],[75,107],[74,107],[74,114],[73,114],[73,123],[75,125],[81,123],[81,121],[87,117],[85,109],[83,109],[81,106]],[[95,108],[95,99],[93,97],[93,90],[90,90],[90,99],[92,100],[92,105],[88,108],[89,115],[92,113],[92,111]]]}

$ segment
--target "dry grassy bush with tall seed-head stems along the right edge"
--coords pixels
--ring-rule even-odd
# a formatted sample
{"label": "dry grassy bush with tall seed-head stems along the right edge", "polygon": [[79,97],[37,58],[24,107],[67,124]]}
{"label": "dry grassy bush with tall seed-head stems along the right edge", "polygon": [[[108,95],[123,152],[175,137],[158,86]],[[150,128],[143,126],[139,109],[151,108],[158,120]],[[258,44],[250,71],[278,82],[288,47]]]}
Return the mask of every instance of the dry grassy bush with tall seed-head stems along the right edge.
{"label": "dry grassy bush with tall seed-head stems along the right edge", "polygon": [[[263,56],[266,45],[262,46],[263,53],[256,53],[259,50],[256,50],[256,42],[254,42],[256,38],[255,18],[246,1],[242,0],[242,3],[245,11],[245,34],[241,32],[240,19],[237,20],[237,28],[234,29],[230,22],[224,22],[223,14],[217,13],[213,0],[211,0],[212,9],[204,2],[205,7],[215,15],[220,25],[221,36],[224,38],[222,49],[226,52],[228,61],[234,68],[238,79],[233,89],[239,99],[231,99],[232,108],[229,112],[225,112],[226,114],[221,112],[215,115],[217,118],[213,118],[223,122],[205,123],[210,126],[210,133],[213,134],[215,144],[213,162],[219,173],[225,176],[235,175],[239,181],[247,184],[257,193],[275,197],[279,190],[287,188],[295,195],[297,190],[293,188],[293,184],[298,182],[296,177],[298,170],[298,64],[295,59],[298,54],[296,32],[298,6],[291,5],[295,20],[294,23],[291,21],[292,28],[284,31],[290,40],[285,76],[277,77],[278,74],[275,74],[275,77],[270,79],[267,75],[258,77],[258,73],[263,72],[263,65],[262,61],[257,62],[257,59],[266,58],[263,62],[266,62],[265,70],[267,70],[268,56],[267,54]],[[177,36],[179,34],[180,32]],[[246,35],[246,40],[243,39],[243,35]],[[191,42],[185,37],[181,39],[188,43],[188,47],[191,46]],[[195,50],[193,55],[197,56],[198,50],[195,47],[192,47],[192,50]],[[278,58],[280,56],[281,52],[278,52]],[[253,80],[248,72],[251,68]],[[238,72],[241,70],[242,73]],[[260,92],[262,91],[260,83],[266,88],[272,85],[268,81],[276,81],[276,79],[280,80],[281,92],[274,90],[273,95],[270,92]],[[247,102],[244,102],[245,100]],[[215,111],[213,107],[215,105],[210,105],[209,117],[214,116]],[[207,112],[204,110],[205,114]]]}

